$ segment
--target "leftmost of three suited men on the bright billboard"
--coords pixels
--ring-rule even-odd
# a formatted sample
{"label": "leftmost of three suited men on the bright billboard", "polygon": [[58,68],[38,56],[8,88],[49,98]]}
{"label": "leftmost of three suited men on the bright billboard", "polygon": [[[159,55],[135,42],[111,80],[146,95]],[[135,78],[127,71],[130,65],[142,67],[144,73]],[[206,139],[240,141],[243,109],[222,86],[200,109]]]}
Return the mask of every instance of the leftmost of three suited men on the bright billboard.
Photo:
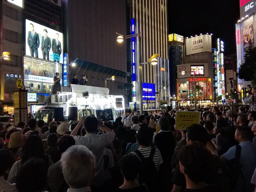
{"label": "leftmost of three suited men on the bright billboard", "polygon": [[34,31],[34,25],[30,23],[31,31],[27,34],[27,44],[30,48],[30,55],[38,58],[38,48],[40,45],[39,35]]}

